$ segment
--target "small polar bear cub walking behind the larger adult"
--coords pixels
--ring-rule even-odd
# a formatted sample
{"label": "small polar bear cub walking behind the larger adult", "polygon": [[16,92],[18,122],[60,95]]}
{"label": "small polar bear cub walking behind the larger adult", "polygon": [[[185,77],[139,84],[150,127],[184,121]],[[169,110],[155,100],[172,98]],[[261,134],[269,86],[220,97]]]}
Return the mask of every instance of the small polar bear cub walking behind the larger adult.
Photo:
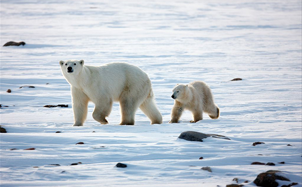
{"label": "small polar bear cub walking behind the larger adult", "polygon": [[219,117],[219,108],[214,103],[211,89],[203,81],[194,81],[187,85],[177,84],[171,97],[175,101],[169,123],[178,123],[183,110],[193,113],[194,119],[191,123],[202,120],[203,112],[208,113],[212,119]]}

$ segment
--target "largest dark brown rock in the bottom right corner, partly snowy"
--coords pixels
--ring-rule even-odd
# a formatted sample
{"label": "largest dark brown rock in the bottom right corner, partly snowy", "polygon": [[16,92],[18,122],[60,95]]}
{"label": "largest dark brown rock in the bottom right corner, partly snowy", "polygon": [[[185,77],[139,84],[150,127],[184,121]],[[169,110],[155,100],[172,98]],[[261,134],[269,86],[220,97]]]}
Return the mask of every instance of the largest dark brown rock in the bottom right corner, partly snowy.
{"label": "largest dark brown rock in the bottom right corner, partly snowy", "polygon": [[261,173],[257,176],[254,183],[258,187],[278,187],[278,183],[275,180],[280,181],[290,181],[289,179],[277,175],[280,171],[277,170],[269,170],[266,173]]}

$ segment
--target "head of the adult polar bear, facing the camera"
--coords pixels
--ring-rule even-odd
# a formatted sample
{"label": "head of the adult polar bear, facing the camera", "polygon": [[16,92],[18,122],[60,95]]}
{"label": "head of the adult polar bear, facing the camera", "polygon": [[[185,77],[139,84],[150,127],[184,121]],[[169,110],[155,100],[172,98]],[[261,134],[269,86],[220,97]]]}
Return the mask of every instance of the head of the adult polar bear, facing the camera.
{"label": "head of the adult polar bear, facing the camera", "polygon": [[76,75],[82,71],[84,60],[61,60],[59,63],[63,75]]}

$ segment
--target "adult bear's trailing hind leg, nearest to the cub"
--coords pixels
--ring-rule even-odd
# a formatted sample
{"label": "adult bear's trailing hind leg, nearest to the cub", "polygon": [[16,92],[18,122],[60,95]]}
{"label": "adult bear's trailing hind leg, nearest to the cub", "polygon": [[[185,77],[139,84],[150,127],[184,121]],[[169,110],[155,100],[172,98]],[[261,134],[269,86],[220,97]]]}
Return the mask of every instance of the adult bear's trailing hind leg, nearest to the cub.
{"label": "adult bear's trailing hind leg, nearest to the cub", "polygon": [[151,120],[151,124],[163,123],[163,117],[156,107],[152,89],[150,90],[148,97],[139,106],[139,108]]}

